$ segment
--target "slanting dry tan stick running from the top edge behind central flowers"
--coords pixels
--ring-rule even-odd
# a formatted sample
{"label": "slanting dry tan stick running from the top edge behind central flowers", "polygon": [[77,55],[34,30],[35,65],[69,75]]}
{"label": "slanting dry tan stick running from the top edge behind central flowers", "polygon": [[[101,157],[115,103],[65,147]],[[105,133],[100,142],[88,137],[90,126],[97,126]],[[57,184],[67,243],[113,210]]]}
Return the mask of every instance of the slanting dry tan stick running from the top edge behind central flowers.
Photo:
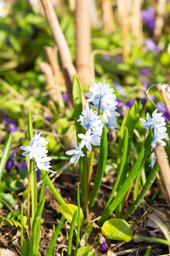
{"label": "slanting dry tan stick running from the top edge behind central flowers", "polygon": [[65,36],[59,25],[59,21],[57,19],[51,0],[41,0],[41,4],[43,6],[43,9],[48,21],[48,25],[50,26],[52,36],[59,49],[61,65],[63,68],[65,84],[68,92],[68,106],[69,108],[72,108],[73,107],[72,83],[73,83],[74,74],[76,74],[76,69],[72,63],[70,50],[65,40]]}

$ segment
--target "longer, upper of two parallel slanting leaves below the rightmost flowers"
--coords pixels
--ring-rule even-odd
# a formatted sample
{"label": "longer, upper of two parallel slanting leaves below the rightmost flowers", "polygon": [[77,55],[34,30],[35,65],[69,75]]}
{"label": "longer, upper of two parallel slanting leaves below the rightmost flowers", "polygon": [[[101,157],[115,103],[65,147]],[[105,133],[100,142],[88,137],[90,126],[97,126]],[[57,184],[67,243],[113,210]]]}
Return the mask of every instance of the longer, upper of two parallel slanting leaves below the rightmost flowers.
{"label": "longer, upper of two parallel slanting leaves below the rightmost flowers", "polygon": [[141,168],[141,166],[143,164],[143,161],[144,161],[144,159],[145,159],[145,157],[148,153],[148,150],[150,148],[150,144],[152,142],[152,138],[153,138],[153,131],[151,130],[149,132],[148,136],[146,137],[144,145],[143,145],[143,147],[140,151],[139,157],[138,157],[137,161],[135,162],[133,168],[131,169],[131,172],[129,173],[129,176],[126,178],[125,182],[123,183],[122,187],[118,191],[118,194],[116,195],[116,197],[113,199],[112,203],[102,213],[102,216],[101,216],[99,222],[97,223],[98,226],[102,226],[102,224],[105,222],[105,220],[107,220],[109,218],[111,213],[116,209],[118,204],[120,204],[121,200],[126,195],[126,192],[130,188],[130,186],[133,184],[133,182],[135,180],[135,177],[136,177],[139,169]]}

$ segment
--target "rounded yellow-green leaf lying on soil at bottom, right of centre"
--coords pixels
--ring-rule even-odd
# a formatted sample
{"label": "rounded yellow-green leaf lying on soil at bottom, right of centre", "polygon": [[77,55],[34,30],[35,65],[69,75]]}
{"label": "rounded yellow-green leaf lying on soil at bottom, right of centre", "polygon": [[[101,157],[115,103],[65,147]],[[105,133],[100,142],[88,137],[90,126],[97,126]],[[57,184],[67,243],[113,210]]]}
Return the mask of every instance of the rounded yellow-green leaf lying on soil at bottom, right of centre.
{"label": "rounded yellow-green leaf lying on soil at bottom, right of centre", "polygon": [[107,220],[102,226],[102,234],[109,239],[129,242],[133,235],[133,229],[122,219]]}

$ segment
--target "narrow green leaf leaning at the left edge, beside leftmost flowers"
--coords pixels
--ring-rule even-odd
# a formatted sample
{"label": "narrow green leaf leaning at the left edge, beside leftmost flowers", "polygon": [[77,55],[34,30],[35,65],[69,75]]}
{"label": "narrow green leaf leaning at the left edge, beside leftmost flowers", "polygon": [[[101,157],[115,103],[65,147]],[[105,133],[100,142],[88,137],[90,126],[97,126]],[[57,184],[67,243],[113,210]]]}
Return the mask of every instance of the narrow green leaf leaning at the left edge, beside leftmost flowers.
{"label": "narrow green leaf leaning at the left edge, beside leftmost flowers", "polygon": [[11,145],[13,140],[13,132],[10,133],[7,144],[4,149],[4,153],[2,155],[2,158],[0,160],[0,182],[2,180],[3,171],[5,168],[5,165],[7,164],[8,157],[10,155]]}

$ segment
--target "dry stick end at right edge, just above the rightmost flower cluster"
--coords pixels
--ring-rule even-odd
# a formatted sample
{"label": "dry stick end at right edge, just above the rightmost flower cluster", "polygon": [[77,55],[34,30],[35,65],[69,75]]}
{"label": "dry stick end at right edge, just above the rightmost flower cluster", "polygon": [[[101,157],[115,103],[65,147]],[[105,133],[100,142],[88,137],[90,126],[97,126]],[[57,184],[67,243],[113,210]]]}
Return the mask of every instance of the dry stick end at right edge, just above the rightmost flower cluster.
{"label": "dry stick end at right edge, just above the rightmost flower cluster", "polygon": [[163,102],[166,106],[166,109],[168,110],[169,115],[170,115],[170,87],[168,84],[159,83],[157,85],[157,89],[158,89],[159,93],[161,94]]}

